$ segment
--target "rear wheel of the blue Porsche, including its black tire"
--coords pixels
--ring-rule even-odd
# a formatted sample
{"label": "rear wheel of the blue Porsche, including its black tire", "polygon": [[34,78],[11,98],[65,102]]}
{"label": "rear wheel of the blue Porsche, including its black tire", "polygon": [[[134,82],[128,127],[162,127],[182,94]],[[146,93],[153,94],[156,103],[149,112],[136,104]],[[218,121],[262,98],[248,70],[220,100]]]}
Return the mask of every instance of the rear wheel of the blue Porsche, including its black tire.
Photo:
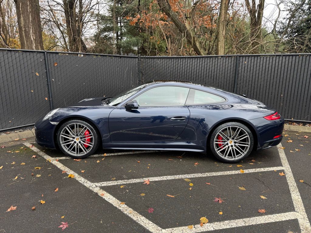
{"label": "rear wheel of the blue Porsche, including its black tire", "polygon": [[232,121],[218,126],[212,132],[208,143],[217,159],[226,163],[235,163],[248,157],[252,152],[254,136],[247,126]]}

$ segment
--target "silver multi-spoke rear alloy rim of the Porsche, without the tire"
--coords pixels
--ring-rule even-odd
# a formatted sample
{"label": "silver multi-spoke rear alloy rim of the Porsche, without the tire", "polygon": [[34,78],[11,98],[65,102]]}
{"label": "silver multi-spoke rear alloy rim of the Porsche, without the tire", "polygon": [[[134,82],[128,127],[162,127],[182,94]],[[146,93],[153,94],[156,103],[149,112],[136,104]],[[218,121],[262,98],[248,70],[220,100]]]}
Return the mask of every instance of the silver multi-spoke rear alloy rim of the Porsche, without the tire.
{"label": "silver multi-spoke rear alloy rim of the Porsche, without the tire", "polygon": [[214,138],[216,153],[226,160],[238,160],[248,152],[249,147],[249,135],[239,126],[224,127]]}

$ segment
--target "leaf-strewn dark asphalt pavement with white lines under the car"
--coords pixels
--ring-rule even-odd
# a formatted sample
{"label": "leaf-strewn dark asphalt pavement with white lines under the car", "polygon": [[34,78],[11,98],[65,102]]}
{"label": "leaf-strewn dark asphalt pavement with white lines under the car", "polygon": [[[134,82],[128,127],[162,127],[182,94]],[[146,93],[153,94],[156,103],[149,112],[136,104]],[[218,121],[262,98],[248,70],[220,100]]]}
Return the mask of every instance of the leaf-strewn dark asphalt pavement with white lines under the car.
{"label": "leaf-strewn dark asphalt pavement with white lines under the car", "polygon": [[[171,151],[102,150],[77,161],[33,138],[7,143],[0,233],[61,232],[60,225],[63,232],[310,233],[311,135],[283,135],[282,148],[236,164]],[[202,217],[208,223],[200,226]]]}

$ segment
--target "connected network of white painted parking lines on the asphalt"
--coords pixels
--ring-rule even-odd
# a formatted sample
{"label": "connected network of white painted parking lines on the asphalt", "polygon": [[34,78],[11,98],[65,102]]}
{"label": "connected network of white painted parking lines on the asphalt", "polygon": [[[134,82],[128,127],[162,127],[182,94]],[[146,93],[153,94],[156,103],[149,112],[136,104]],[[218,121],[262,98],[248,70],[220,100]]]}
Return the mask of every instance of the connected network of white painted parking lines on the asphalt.
{"label": "connected network of white painted parking lines on the asphalt", "polygon": [[[30,143],[24,143],[24,145],[30,147]],[[281,144],[280,144],[281,146]],[[131,217],[137,223],[145,227],[147,230],[155,233],[191,233],[191,232],[203,232],[203,231],[213,231],[219,229],[227,229],[227,228],[235,228],[240,226],[249,226],[249,225],[256,225],[256,224],[263,224],[269,222],[280,222],[286,221],[290,219],[298,219],[299,226],[302,233],[309,233],[311,232],[310,223],[307,217],[307,214],[304,209],[304,205],[302,203],[302,199],[299,194],[299,190],[297,188],[293,173],[290,169],[289,163],[286,159],[284,150],[278,149],[281,162],[283,167],[268,167],[268,168],[257,168],[257,169],[246,169],[244,173],[250,172],[260,172],[260,171],[272,171],[272,170],[284,170],[285,177],[289,184],[290,194],[293,199],[294,207],[296,212],[287,212],[287,213],[279,213],[279,214],[272,214],[272,215],[265,215],[260,217],[250,217],[250,218],[243,218],[243,219],[235,219],[229,221],[222,221],[222,222],[212,222],[204,224],[202,227],[200,225],[193,226],[193,229],[189,229],[187,226],[182,227],[174,227],[169,229],[162,229],[150,220],[146,219],[138,212],[134,211],[132,208],[129,208],[125,204],[121,204],[120,201],[114,198],[109,193],[101,190],[99,186],[107,186],[107,185],[118,185],[118,184],[125,184],[125,183],[135,183],[135,182],[142,182],[146,179],[150,181],[156,180],[171,180],[171,179],[180,179],[180,178],[194,178],[194,177],[205,177],[205,176],[220,176],[220,175],[231,175],[231,174],[239,174],[239,170],[234,171],[223,171],[223,172],[209,172],[209,173],[196,173],[196,174],[187,174],[187,175],[178,175],[178,176],[159,176],[159,177],[150,177],[150,178],[141,178],[141,179],[132,179],[132,180],[118,180],[118,181],[108,181],[108,182],[99,182],[99,183],[91,183],[90,181],[86,180],[85,178],[78,175],[76,172],[70,170],[69,168],[65,167],[62,163],[56,161],[56,158],[52,158],[46,153],[42,152],[36,147],[31,147],[33,151],[38,153],[40,156],[47,160],[51,160],[55,166],[57,166],[62,171],[66,171],[68,174],[73,174],[75,177],[74,179],[78,180],[81,184],[85,185],[90,190],[94,191],[98,195],[100,195],[103,199],[114,205],[116,208],[121,210],[124,214]],[[150,151],[149,151],[150,152]],[[141,152],[143,153],[143,152]],[[111,155],[111,154],[110,154]],[[60,157],[63,158],[63,157]],[[242,173],[240,173],[242,174]],[[104,194],[104,195],[102,195]]]}

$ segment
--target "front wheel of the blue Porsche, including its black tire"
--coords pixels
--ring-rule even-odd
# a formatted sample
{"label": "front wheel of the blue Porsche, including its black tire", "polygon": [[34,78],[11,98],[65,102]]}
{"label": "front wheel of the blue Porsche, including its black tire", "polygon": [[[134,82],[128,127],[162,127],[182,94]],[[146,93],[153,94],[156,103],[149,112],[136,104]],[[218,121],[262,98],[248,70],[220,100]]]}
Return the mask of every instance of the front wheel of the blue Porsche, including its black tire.
{"label": "front wheel of the blue Porsche, including its black tire", "polygon": [[70,120],[57,131],[60,150],[72,158],[85,158],[93,154],[99,146],[99,135],[86,121]]}

